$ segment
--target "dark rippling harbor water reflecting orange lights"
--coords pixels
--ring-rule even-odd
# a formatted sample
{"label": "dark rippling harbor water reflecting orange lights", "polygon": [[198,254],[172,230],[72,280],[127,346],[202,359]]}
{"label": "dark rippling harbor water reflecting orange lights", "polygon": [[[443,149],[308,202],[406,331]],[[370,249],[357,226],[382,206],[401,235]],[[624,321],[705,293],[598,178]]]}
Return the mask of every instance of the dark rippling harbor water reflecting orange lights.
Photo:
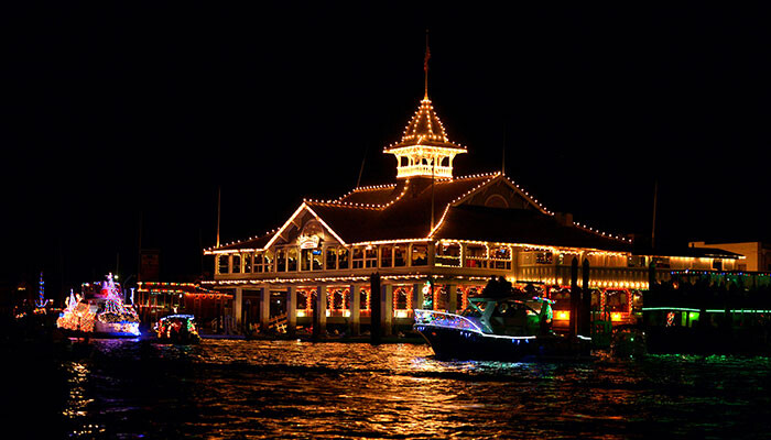
{"label": "dark rippling harbor water reflecting orange lights", "polygon": [[22,391],[46,438],[769,438],[771,428],[765,358],[526,364],[439,362],[413,344],[90,344]]}

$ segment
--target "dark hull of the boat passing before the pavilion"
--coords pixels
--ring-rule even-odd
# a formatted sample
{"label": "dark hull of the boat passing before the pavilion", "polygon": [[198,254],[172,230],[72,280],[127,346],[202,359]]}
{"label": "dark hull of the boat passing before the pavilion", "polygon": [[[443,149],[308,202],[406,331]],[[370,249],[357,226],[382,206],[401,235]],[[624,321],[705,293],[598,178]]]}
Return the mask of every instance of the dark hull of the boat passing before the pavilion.
{"label": "dark hull of the boat passing before the pavilion", "polygon": [[556,336],[500,337],[465,329],[415,324],[437,359],[537,361],[583,359],[590,355],[589,341]]}

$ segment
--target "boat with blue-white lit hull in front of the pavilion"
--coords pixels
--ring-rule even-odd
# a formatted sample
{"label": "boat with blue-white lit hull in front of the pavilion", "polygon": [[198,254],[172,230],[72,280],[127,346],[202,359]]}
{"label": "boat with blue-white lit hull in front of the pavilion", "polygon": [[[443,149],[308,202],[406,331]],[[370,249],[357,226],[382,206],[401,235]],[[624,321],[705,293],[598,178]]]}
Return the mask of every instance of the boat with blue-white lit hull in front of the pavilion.
{"label": "boat with blue-white lit hull in front of the pavilion", "polygon": [[415,310],[414,329],[439,359],[532,361],[582,358],[590,338],[552,331],[551,299],[491,280],[459,315]]}

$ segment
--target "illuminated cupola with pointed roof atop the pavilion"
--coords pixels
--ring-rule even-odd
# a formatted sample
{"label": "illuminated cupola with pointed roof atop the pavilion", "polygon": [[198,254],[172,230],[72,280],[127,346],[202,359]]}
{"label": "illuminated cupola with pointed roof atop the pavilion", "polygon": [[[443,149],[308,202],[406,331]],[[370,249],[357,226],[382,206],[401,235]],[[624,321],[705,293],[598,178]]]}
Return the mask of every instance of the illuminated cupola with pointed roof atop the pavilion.
{"label": "illuminated cupola with pointed roof atop the pavilion", "polygon": [[401,142],[387,146],[383,153],[397,156],[397,178],[453,178],[453,158],[466,153],[466,147],[449,142],[426,95]]}

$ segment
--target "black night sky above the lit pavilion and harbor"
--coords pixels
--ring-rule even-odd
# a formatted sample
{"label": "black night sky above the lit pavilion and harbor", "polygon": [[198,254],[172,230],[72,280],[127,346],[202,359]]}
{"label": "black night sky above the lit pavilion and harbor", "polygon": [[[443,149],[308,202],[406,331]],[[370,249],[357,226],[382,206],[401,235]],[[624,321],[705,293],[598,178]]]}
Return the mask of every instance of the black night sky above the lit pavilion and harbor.
{"label": "black night sky above the lit pavilion and harbor", "polygon": [[[500,168],[613,233],[769,239],[769,10],[57,4],[3,10],[2,280],[200,273],[303,197],[390,182],[423,94],[456,175]],[[4,130],[3,130],[4,131]],[[210,270],[210,267],[205,267]]]}

